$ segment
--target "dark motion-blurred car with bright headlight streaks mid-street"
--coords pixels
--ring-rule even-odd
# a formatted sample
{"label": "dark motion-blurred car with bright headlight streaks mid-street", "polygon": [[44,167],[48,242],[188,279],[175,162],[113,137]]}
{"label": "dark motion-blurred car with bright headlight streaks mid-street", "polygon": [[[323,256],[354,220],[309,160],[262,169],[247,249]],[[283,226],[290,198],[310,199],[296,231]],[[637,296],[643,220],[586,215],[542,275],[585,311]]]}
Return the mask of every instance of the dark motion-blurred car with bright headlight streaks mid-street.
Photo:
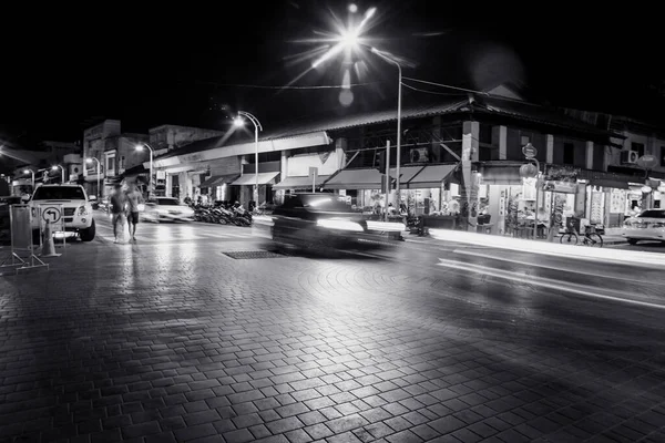
{"label": "dark motion-blurred car with bright headlight streaks mid-street", "polygon": [[405,230],[400,223],[366,220],[334,194],[291,195],[270,219],[273,241],[310,249],[378,248],[392,245],[385,233]]}

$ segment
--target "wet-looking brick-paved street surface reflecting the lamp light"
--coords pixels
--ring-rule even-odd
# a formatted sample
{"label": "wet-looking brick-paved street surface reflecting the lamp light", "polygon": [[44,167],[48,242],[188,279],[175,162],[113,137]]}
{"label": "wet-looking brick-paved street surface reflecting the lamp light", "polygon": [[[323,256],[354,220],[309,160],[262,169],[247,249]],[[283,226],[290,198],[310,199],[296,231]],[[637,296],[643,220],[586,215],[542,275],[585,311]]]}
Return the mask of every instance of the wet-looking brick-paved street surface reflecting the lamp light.
{"label": "wet-looking brick-paved street surface reflecting the lamp light", "polygon": [[0,279],[0,440],[665,441],[659,269],[98,227]]}

